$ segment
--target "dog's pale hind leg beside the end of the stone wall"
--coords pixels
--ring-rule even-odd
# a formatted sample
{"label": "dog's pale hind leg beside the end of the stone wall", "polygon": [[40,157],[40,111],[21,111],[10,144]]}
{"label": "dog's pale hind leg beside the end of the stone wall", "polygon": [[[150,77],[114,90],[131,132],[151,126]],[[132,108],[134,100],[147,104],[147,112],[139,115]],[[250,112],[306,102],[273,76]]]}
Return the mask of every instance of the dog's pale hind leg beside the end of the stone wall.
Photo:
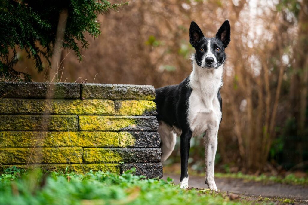
{"label": "dog's pale hind leg beside the end of the stone wall", "polygon": [[168,159],[174,150],[176,144],[176,134],[173,132],[170,126],[163,121],[159,122],[158,133],[160,135],[160,148],[161,148],[161,162],[163,163]]}

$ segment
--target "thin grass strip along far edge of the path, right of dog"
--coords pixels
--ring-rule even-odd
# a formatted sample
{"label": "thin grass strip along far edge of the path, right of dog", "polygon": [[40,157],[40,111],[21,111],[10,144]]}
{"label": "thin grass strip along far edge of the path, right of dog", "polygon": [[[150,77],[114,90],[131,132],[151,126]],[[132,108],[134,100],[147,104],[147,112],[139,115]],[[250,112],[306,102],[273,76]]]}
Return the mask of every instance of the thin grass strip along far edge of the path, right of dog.
{"label": "thin grass strip along far edge of the path, right of dog", "polygon": [[296,177],[294,174],[289,174],[285,177],[282,176],[266,176],[261,174],[260,176],[254,175],[245,175],[241,172],[237,173],[215,173],[217,178],[235,178],[235,179],[244,179],[247,181],[256,181],[256,182],[275,182],[275,183],[284,183],[284,184],[295,184],[295,185],[308,185],[307,177]]}

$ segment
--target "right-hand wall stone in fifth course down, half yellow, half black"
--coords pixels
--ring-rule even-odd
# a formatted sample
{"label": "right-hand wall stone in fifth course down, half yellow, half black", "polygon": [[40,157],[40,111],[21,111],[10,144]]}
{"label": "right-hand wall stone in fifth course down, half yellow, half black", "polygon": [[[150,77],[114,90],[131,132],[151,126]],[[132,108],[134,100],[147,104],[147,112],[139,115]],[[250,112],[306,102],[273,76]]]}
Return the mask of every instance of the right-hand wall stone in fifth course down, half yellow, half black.
{"label": "right-hand wall stone in fifth course down, half yellow, half black", "polygon": [[158,163],[160,148],[83,148],[85,163]]}

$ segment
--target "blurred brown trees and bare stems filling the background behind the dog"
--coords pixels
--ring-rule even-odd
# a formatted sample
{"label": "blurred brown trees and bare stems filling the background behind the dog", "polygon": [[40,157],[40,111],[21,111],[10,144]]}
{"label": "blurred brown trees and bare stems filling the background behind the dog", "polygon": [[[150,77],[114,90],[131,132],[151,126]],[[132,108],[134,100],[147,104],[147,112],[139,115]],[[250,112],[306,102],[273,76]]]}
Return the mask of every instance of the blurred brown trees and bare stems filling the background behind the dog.
{"label": "blurred brown trees and bare stems filling the background behind the dog", "polygon": [[[64,50],[59,71],[68,82],[177,84],[192,69],[190,22],[213,37],[229,19],[217,168],[307,170],[307,6],[307,0],[131,1],[125,12],[98,17],[102,34],[83,52],[83,62]],[[94,44],[91,35],[86,39]],[[14,68],[43,81],[24,56],[18,50]],[[171,162],[179,162],[178,146]],[[192,139],[189,163],[204,169],[201,137]]]}

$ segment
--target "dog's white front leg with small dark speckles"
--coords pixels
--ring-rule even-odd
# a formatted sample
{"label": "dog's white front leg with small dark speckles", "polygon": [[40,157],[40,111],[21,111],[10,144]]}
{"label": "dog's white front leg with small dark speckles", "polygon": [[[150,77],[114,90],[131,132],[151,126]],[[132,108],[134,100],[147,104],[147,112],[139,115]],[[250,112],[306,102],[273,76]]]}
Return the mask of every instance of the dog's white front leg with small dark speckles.
{"label": "dog's white front leg with small dark speckles", "polygon": [[204,135],[205,146],[205,183],[210,189],[217,191],[214,179],[214,162],[217,150],[217,132],[218,127],[209,126]]}

